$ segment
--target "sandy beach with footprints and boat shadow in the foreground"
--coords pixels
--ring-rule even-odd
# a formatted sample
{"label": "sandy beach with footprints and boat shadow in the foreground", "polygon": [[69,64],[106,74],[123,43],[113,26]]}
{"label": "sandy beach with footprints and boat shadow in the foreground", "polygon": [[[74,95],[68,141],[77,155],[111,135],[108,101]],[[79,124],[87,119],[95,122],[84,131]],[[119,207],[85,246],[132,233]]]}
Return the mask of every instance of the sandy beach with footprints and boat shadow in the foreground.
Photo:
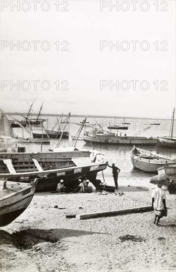
{"label": "sandy beach with footprints and boat shadow in the foreground", "polygon": [[144,179],[129,183],[119,181],[117,193],[105,195],[36,193],[26,211],[0,230],[1,271],[176,271],[176,195],[168,191],[168,216],[160,226],[153,224],[153,211],[66,218],[150,206],[156,185]]}

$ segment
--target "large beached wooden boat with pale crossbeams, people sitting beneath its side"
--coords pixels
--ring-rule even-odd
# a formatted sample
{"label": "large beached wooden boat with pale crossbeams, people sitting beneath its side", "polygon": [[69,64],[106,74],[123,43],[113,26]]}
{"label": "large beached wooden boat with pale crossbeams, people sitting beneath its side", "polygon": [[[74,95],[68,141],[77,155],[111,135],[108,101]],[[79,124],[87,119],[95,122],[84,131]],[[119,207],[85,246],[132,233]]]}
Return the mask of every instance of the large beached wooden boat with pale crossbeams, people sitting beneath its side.
{"label": "large beached wooden boat with pale crossbeams, people sitting beneath its side", "polygon": [[0,179],[29,182],[39,178],[37,191],[56,190],[62,179],[72,183],[85,176],[95,181],[107,168],[103,154],[96,150],[60,147],[54,152],[0,153]]}

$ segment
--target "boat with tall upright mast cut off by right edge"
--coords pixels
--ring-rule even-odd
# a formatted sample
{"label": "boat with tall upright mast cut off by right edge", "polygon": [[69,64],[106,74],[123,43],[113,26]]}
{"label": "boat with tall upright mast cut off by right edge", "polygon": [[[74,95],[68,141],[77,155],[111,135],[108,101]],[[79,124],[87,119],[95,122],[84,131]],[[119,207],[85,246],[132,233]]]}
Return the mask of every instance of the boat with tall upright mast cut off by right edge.
{"label": "boat with tall upright mast cut off by right edge", "polygon": [[176,150],[176,137],[173,136],[174,115],[175,115],[175,108],[173,110],[169,137],[167,137],[167,136],[158,137],[157,138],[158,139],[158,141],[157,141],[157,146],[158,147],[173,148],[173,149]]}

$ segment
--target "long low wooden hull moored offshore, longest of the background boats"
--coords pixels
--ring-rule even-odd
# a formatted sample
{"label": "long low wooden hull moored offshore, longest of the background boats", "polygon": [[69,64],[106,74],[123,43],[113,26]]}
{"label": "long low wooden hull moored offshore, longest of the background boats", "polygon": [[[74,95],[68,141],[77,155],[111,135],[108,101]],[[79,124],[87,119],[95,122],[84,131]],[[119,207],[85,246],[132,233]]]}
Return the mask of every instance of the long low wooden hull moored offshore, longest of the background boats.
{"label": "long low wooden hull moored offshore, longest of the background boats", "polygon": [[83,136],[86,143],[96,143],[96,144],[114,144],[114,145],[156,145],[157,139],[146,137],[113,137],[113,136]]}

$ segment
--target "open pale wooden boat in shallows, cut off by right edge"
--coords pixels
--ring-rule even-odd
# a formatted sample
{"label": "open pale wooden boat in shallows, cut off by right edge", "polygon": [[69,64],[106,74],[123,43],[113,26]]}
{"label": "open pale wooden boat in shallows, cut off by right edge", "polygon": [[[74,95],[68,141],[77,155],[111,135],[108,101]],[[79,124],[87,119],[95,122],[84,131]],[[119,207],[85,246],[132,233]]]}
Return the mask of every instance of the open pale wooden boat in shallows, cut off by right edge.
{"label": "open pale wooden boat in shallows, cut off by right edge", "polygon": [[145,172],[158,173],[158,168],[176,164],[176,159],[165,158],[161,155],[152,154],[150,151],[134,147],[131,150],[131,162],[134,168]]}

